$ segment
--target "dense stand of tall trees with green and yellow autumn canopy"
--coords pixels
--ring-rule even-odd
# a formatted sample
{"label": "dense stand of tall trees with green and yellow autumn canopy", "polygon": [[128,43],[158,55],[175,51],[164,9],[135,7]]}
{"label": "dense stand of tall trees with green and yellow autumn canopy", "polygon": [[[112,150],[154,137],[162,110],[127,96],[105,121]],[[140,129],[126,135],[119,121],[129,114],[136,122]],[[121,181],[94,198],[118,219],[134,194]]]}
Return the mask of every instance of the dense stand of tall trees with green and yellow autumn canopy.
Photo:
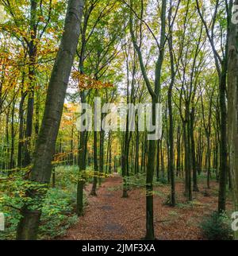
{"label": "dense stand of tall trees with green and yellow autumn canopy", "polygon": [[[153,183],[176,181],[193,200],[199,176],[219,183],[217,211],[228,190],[238,209],[237,1],[27,0],[0,1],[0,206],[17,214],[17,239],[36,239],[49,184],[71,166],[76,214],[113,173],[144,177],[146,239],[155,239]],[[67,10],[67,12],[66,12]],[[66,16],[65,16],[66,15]],[[63,27],[64,22],[64,27]],[[79,103],[157,103],[159,140],[151,131],[79,131]],[[95,113],[94,113],[95,114]],[[102,114],[102,120],[106,114]],[[2,210],[4,209],[4,210]],[[17,213],[16,213],[17,212]]]}

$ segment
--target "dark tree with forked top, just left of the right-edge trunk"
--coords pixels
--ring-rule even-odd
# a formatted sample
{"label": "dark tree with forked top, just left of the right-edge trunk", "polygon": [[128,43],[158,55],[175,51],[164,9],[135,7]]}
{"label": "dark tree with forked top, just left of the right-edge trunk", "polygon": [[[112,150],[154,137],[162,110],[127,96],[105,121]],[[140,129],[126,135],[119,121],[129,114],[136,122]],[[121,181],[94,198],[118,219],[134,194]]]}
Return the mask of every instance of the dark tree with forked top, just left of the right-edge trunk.
{"label": "dark tree with forked top, just left of the right-edge trunk", "polygon": [[[223,5],[220,6],[220,1],[217,0],[213,5],[213,20],[208,23],[203,15],[202,7],[204,7],[203,1],[197,2],[198,14],[201,17],[202,23],[205,26],[205,32],[209,39],[210,47],[213,51],[213,57],[215,60],[217,75],[219,77],[219,106],[221,111],[220,118],[220,175],[219,175],[219,198],[218,198],[218,211],[225,211],[225,200],[226,200],[226,180],[228,175],[228,145],[227,145],[227,106],[226,106],[226,88],[227,88],[227,69],[228,69],[228,37],[229,37],[229,23],[230,23],[230,8],[228,6],[228,0],[226,0]],[[202,7],[201,7],[202,6]],[[221,41],[221,53],[217,51],[215,42],[215,28],[216,22],[218,20],[219,8],[222,8],[225,13],[226,19],[226,38],[225,41]],[[221,25],[221,23],[220,23]],[[221,29],[222,30],[222,29]]]}

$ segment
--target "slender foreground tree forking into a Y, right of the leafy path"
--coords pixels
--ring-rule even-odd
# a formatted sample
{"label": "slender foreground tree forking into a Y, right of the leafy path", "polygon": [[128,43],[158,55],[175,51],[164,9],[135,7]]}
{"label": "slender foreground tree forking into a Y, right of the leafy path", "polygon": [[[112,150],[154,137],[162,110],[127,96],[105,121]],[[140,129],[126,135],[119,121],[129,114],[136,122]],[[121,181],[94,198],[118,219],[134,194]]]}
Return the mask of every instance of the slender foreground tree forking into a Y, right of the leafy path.
{"label": "slender foreground tree forking into a Y, right of the leafy path", "polygon": [[[133,4],[132,1],[130,2],[130,33],[132,37],[132,43],[134,45],[134,48],[136,49],[138,59],[140,62],[140,70],[142,72],[144,82],[148,88],[149,94],[152,97],[152,123],[155,125],[155,104],[159,103],[159,97],[160,97],[160,91],[161,91],[161,72],[162,72],[162,65],[163,65],[163,57],[164,57],[164,51],[165,51],[165,43],[166,43],[166,10],[167,10],[167,1],[162,1],[162,7],[161,7],[161,33],[160,33],[160,42],[156,41],[156,44],[159,48],[159,56],[156,60],[155,64],[155,80],[154,80],[154,89],[152,87],[152,83],[148,79],[148,73],[146,71],[144,60],[141,52],[141,45],[137,44],[136,36],[133,29],[133,14],[135,14],[135,11],[133,12]],[[140,22],[143,22],[143,10],[144,10],[144,4],[141,2],[141,16]],[[147,177],[146,177],[146,239],[155,239],[155,233],[154,233],[154,214],[153,214],[153,176],[154,176],[154,168],[155,168],[155,141],[151,140],[148,142],[149,148],[148,148],[148,165],[147,165]]]}

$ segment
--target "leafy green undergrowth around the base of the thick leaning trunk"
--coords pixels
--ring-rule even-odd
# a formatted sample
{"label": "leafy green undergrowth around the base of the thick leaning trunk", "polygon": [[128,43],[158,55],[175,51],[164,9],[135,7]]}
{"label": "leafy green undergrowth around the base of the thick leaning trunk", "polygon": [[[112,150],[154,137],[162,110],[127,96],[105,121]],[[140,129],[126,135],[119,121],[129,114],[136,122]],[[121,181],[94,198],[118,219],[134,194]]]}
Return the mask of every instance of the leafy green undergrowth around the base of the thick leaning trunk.
{"label": "leafy green undergrowth around the base of the thick leaning trunk", "polygon": [[[44,197],[42,214],[40,218],[39,239],[52,239],[63,235],[68,227],[76,223],[78,217],[75,215],[76,184],[75,176],[78,175],[76,166],[60,166],[56,168],[56,188],[49,188]],[[42,185],[30,183],[20,176],[14,177],[6,184],[5,192],[0,193],[0,211],[6,216],[6,231],[0,232],[0,240],[15,239],[17,223],[21,218],[20,208],[26,200],[25,190],[28,188],[46,189]],[[2,186],[5,186],[2,184]],[[86,204],[86,196],[83,197]],[[36,202],[35,202],[36,203]]]}

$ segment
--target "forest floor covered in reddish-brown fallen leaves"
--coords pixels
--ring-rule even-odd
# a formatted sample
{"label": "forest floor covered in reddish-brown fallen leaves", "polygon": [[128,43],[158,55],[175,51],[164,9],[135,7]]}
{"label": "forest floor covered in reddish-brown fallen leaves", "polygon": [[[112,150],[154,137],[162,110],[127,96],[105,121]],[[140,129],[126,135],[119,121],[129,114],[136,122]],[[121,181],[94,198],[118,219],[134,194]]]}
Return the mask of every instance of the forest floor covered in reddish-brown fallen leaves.
{"label": "forest floor covered in reddish-brown fallen leaves", "polygon": [[[90,187],[86,187],[88,205],[79,222],[68,229],[63,240],[126,240],[142,239],[145,235],[145,192],[142,188],[133,188],[128,198],[122,198],[121,177],[115,174],[98,188],[98,196],[89,196]],[[186,203],[182,182],[176,184],[178,204],[171,208],[164,204],[170,195],[170,186],[161,184],[154,188],[154,216],[156,239],[201,240],[199,223],[205,215],[217,209],[217,187],[211,181],[209,196],[205,194],[205,182],[200,184],[200,192],[194,192],[193,202]],[[232,207],[228,202],[228,208]]]}

